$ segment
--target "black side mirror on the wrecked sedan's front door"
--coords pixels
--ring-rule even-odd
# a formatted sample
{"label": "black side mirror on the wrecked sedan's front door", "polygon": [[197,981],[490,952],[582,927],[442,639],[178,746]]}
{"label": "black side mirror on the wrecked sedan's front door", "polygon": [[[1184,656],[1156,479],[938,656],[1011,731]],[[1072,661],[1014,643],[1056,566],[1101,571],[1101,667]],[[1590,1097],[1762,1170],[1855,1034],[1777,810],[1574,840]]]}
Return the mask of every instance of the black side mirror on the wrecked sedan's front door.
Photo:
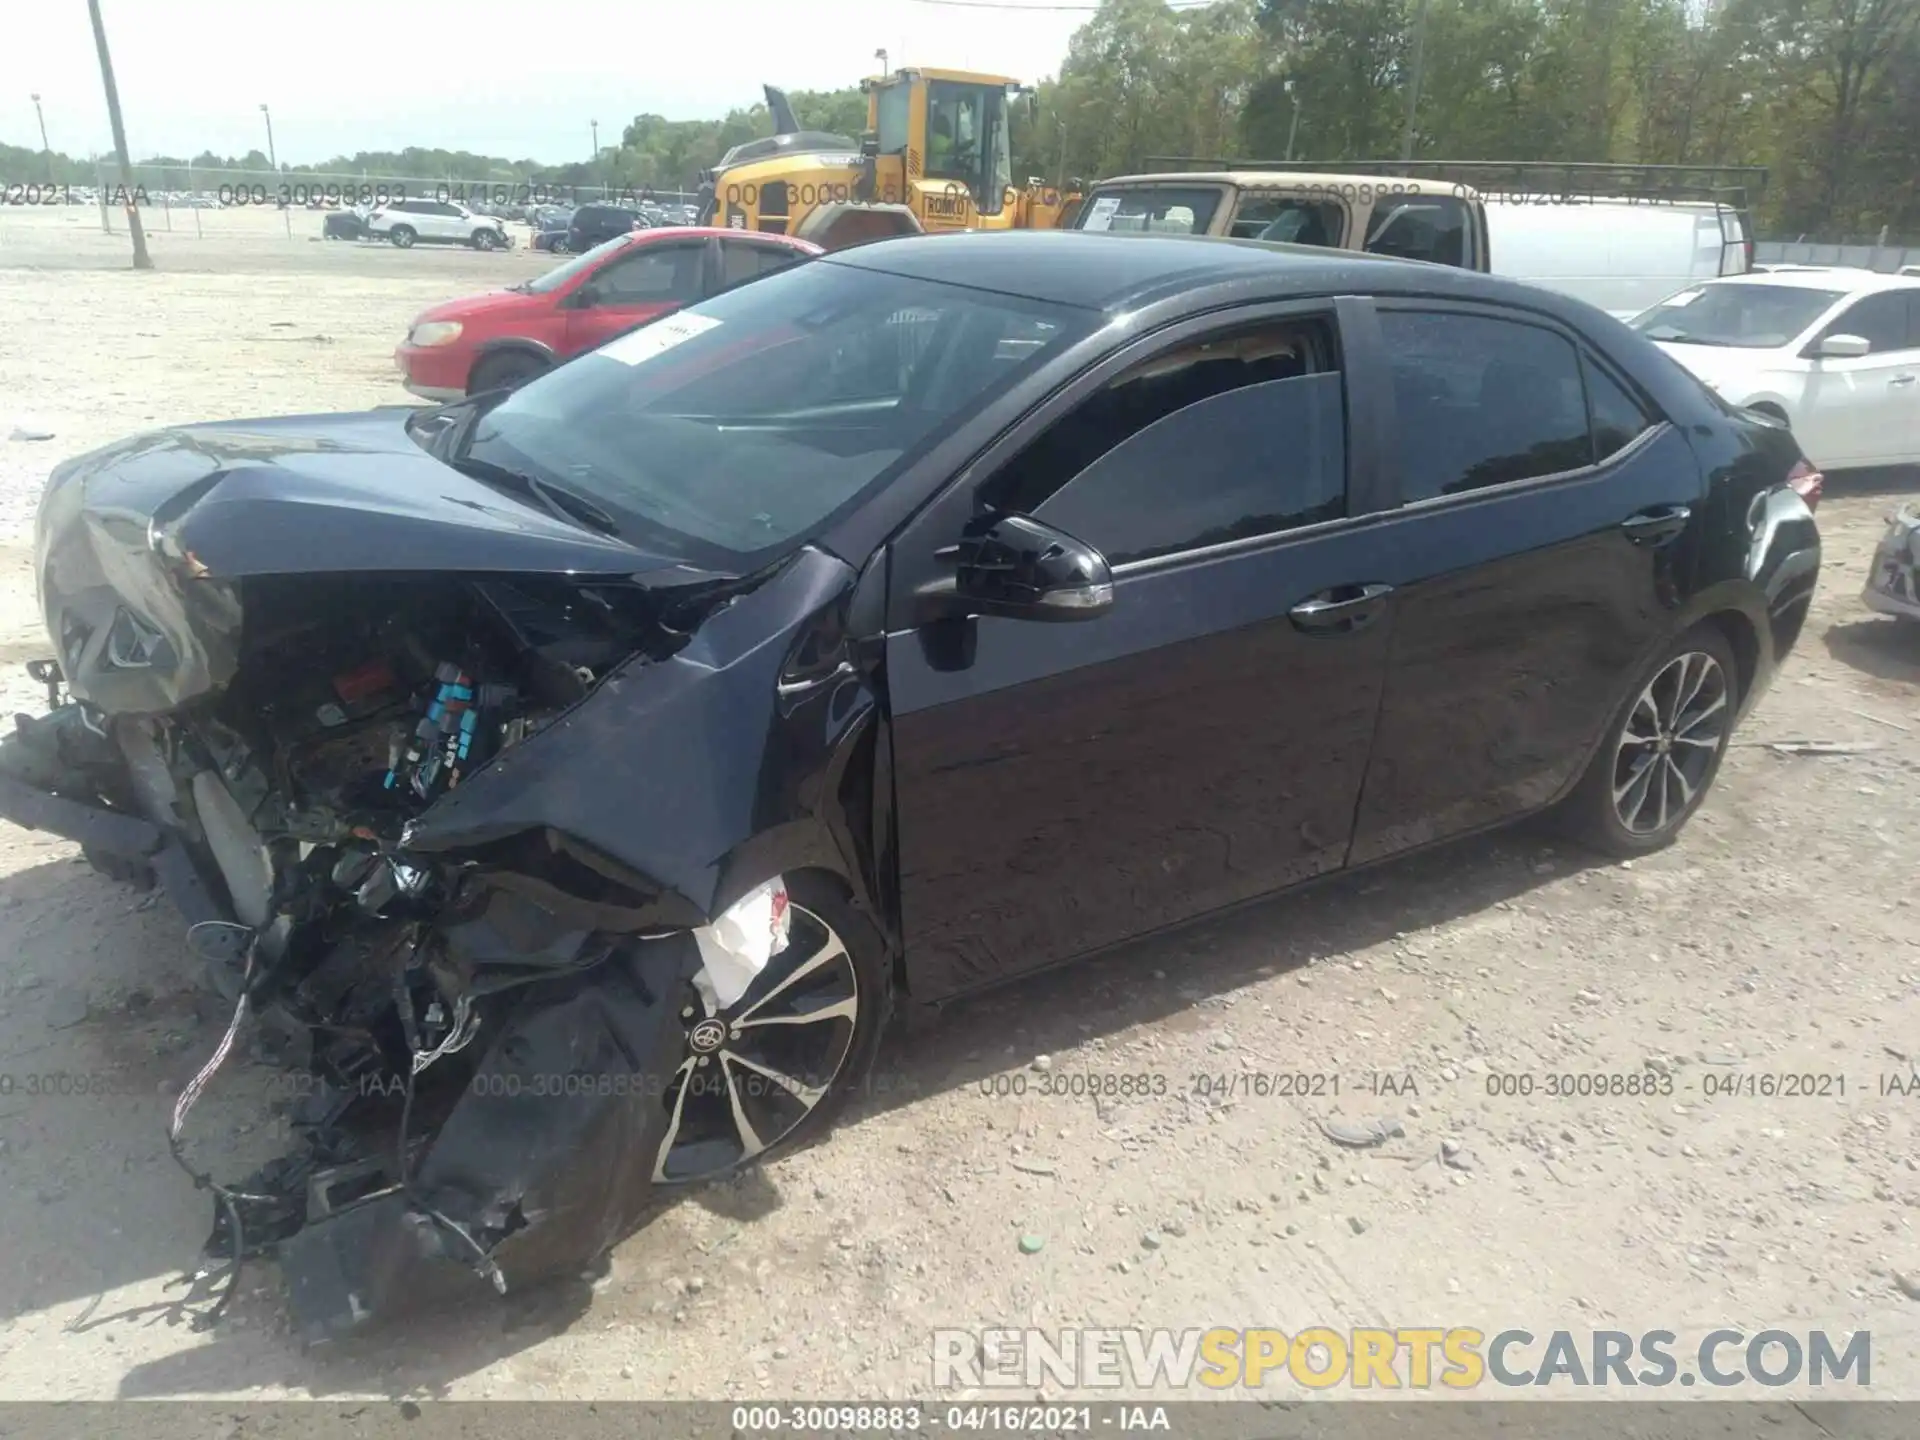
{"label": "black side mirror on the wrecked sedan's front door", "polygon": [[948,614],[1092,620],[1114,609],[1114,572],[1092,545],[1025,515],[981,516],[958,545]]}

